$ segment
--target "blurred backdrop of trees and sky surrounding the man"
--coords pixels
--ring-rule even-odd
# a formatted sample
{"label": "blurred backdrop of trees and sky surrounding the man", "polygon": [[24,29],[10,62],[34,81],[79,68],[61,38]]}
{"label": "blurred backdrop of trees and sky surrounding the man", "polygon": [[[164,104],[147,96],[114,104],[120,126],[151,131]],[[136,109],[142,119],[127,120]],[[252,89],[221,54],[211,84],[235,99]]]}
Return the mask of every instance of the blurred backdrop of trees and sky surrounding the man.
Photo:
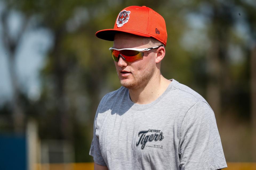
{"label": "blurred backdrop of trees and sky surrounding the man", "polygon": [[95,32],[131,5],[165,18],[162,74],[211,105],[226,161],[256,162],[254,0],[0,0],[0,169],[93,162],[96,109],[120,87]]}

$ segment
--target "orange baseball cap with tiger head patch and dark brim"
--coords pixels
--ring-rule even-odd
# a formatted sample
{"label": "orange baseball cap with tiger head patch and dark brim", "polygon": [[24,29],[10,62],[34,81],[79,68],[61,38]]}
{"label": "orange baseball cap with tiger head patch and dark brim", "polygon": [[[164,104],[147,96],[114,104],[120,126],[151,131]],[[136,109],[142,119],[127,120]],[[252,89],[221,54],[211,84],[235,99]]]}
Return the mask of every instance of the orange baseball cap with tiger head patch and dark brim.
{"label": "orange baseball cap with tiger head patch and dark brim", "polygon": [[153,37],[166,46],[167,31],[163,17],[146,6],[129,6],[117,16],[113,29],[103,29],[96,36],[114,41],[116,32],[126,32],[143,37]]}

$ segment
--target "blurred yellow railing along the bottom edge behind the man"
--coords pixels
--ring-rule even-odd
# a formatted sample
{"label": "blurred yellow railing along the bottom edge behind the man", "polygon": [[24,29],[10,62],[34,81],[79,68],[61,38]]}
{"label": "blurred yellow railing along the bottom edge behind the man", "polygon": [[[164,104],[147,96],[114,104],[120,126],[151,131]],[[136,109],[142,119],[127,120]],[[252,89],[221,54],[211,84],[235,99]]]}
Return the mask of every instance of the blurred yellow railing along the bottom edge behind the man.
{"label": "blurred yellow railing along the bottom edge behind the man", "polygon": [[[256,163],[228,162],[224,170],[256,170]],[[36,164],[36,170],[93,170],[93,163]]]}

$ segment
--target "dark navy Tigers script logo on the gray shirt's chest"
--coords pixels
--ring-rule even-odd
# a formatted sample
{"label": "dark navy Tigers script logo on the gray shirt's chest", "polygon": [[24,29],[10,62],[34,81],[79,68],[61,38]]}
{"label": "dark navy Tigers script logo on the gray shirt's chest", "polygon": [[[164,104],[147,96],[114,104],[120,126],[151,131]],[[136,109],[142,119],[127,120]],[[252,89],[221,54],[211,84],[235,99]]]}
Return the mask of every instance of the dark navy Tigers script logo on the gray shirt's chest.
{"label": "dark navy Tigers script logo on the gray shirt's chest", "polygon": [[[139,141],[136,142],[136,146],[141,145],[141,149],[143,150],[146,146],[147,142],[152,142],[152,141],[162,141],[163,140],[163,132],[160,132],[161,130],[154,130],[154,129],[149,129],[149,130],[142,130],[138,133]],[[149,132],[155,132],[154,134],[146,135]]]}

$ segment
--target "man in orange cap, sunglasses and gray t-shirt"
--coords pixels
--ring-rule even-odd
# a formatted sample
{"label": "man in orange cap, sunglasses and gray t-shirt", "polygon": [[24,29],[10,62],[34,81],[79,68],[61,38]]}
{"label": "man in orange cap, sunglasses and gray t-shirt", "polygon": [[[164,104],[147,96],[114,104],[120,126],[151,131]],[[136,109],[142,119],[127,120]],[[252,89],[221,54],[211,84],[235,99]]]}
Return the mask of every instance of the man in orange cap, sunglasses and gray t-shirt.
{"label": "man in orange cap, sunglasses and gray t-shirt", "polygon": [[123,9],[114,29],[96,33],[110,48],[122,86],[97,109],[94,169],[227,167],[214,113],[195,91],[161,75],[167,32],[151,8]]}

